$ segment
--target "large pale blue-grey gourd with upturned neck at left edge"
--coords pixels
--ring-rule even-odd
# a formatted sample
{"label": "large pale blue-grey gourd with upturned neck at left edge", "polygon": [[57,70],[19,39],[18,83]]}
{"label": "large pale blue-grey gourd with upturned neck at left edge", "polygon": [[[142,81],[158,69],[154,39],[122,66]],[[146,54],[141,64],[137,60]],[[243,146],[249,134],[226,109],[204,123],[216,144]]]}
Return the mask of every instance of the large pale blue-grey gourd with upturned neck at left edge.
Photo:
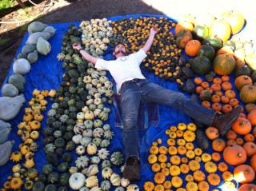
{"label": "large pale blue-grey gourd with upturned neck at left edge", "polygon": [[23,95],[16,97],[0,97],[0,119],[9,121],[16,117],[24,102],[25,98]]}

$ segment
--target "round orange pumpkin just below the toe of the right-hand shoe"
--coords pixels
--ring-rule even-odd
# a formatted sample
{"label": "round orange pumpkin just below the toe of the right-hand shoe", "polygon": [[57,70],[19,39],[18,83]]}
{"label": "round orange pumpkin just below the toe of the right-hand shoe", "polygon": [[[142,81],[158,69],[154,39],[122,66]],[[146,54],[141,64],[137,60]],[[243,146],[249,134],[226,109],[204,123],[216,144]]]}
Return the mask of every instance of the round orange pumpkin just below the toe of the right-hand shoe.
{"label": "round orange pumpkin just below the toe of the right-hand shoe", "polygon": [[235,133],[242,135],[250,133],[250,121],[244,117],[238,117],[237,120],[232,124],[232,130],[234,130]]}

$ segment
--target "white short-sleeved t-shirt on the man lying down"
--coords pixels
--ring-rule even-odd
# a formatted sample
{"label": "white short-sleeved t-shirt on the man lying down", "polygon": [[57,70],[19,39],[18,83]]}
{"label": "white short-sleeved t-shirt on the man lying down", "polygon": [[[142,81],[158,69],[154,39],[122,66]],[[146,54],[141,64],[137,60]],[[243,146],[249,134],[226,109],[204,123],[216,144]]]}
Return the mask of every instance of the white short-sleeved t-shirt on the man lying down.
{"label": "white short-sleeved t-shirt on the man lying down", "polygon": [[122,86],[122,82],[126,82],[134,78],[146,79],[139,68],[144,58],[146,58],[146,53],[141,49],[134,54],[118,58],[114,61],[106,61],[98,58],[95,68],[110,71],[110,74],[117,84],[117,91],[119,91]]}

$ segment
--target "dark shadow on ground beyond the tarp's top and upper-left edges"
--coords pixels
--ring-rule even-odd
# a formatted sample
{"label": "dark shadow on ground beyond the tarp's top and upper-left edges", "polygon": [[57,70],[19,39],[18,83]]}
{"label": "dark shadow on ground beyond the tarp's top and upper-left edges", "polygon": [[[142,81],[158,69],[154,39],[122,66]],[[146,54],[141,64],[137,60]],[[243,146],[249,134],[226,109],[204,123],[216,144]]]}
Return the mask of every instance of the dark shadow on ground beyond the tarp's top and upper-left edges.
{"label": "dark shadow on ground beyond the tarp's top and upper-left edges", "polygon": [[[38,0],[39,1],[39,0]],[[38,18],[38,22],[46,24],[82,22],[91,18],[110,18],[126,14],[162,14],[161,11],[148,6],[138,0],[69,0],[68,6],[62,6],[62,1],[54,2],[54,8],[48,14]],[[0,46],[0,86],[9,73],[10,66],[15,58],[15,54],[26,33],[20,32],[22,26],[1,34],[2,38],[10,38],[5,46]]]}

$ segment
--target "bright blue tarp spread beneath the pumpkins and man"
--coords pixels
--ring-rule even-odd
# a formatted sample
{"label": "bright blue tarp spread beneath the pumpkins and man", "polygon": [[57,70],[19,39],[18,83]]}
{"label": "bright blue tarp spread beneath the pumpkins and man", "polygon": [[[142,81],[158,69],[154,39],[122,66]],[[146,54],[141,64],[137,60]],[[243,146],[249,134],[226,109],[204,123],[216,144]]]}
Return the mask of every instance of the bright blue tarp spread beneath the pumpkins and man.
{"label": "bright blue tarp spread beneath the pumpkins and man", "polygon": [[[134,15],[126,15],[126,18],[138,18],[139,16],[142,17],[166,17],[164,15],[144,15],[144,14],[134,14]],[[117,16],[114,18],[108,18],[110,20],[118,20],[125,18],[124,16]],[[170,18],[171,19],[171,18]],[[59,62],[57,59],[58,53],[61,52],[62,47],[62,36],[66,33],[68,26],[71,23],[62,23],[62,24],[53,24],[50,26],[54,26],[56,29],[56,34],[53,38],[50,38],[49,42],[51,45],[51,51],[50,54],[43,56],[40,55],[38,62],[34,63],[31,66],[31,70],[29,74],[26,74],[24,77],[26,78],[26,86],[24,90],[24,95],[26,98],[26,103],[22,106],[22,109],[20,110],[20,113],[17,117],[14,118],[14,120],[9,121],[10,124],[13,126],[13,129],[10,132],[9,140],[14,140],[15,144],[13,147],[13,151],[19,150],[18,145],[22,143],[21,138],[17,135],[17,125],[19,122],[22,121],[22,117],[24,115],[24,109],[29,106],[28,101],[30,101],[32,97],[32,92],[34,89],[38,90],[56,90],[58,86],[60,86],[60,83],[62,82],[62,74],[64,73],[64,70],[62,70],[62,62]],[[76,26],[79,26],[80,22],[72,23]],[[29,34],[26,34],[23,38],[22,44],[20,45],[17,54],[19,54],[22,50],[22,47],[26,43],[26,39],[29,37]],[[110,54],[106,55],[106,58],[110,58]],[[6,77],[6,80],[4,84],[7,82],[8,78],[13,73],[12,66],[10,67],[10,73]],[[150,73],[148,71],[143,71],[143,74],[145,74],[146,78],[149,79],[150,82],[158,83],[159,85],[165,87],[166,89],[175,90],[178,91],[178,84],[175,82],[166,82],[161,78],[158,78],[157,76],[154,76],[153,73]],[[230,78],[231,82],[234,84],[234,78]],[[238,92],[237,92],[238,93]],[[0,96],[1,93],[0,93]],[[190,97],[190,95],[186,94],[187,97]],[[49,99],[47,98],[49,101]],[[47,110],[50,109],[50,105],[52,103],[49,101],[49,104],[47,105]],[[115,119],[115,113],[114,113],[114,106],[109,105],[111,109],[110,118],[109,121],[107,121],[110,126],[112,127],[112,130],[114,131],[114,138],[110,143],[110,147],[108,150],[110,150],[110,153],[113,153],[115,151],[121,151],[124,153],[124,148],[122,145],[122,129],[114,128],[114,119]],[[149,156],[149,149],[150,145],[153,141],[156,141],[158,138],[162,138],[162,145],[166,145],[167,135],[165,133],[166,129],[170,128],[171,125],[178,125],[180,122],[184,122],[186,124],[193,122],[192,119],[188,116],[186,116],[184,113],[179,111],[178,109],[167,107],[166,105],[159,105],[159,114],[160,114],[160,122],[157,128],[154,128],[153,126],[150,126],[146,130],[142,130],[140,132],[140,151],[141,151],[141,177],[142,180],[139,182],[135,182],[140,186],[140,189],[142,189],[143,183],[145,181],[153,181],[154,173],[151,170],[151,165],[147,162],[147,157]],[[40,138],[38,139],[37,143],[40,146],[40,149],[37,153],[35,153],[35,164],[36,169],[38,169],[39,173],[42,173],[42,165],[46,164],[46,154],[43,151],[43,145],[42,145],[42,129],[46,128],[46,115],[47,111],[43,113],[45,116],[45,120],[42,121],[42,128],[39,130],[40,132]],[[194,145],[197,146],[196,141],[194,141]],[[213,150],[211,148],[204,151],[205,153],[213,153]],[[170,158],[170,157],[168,157]],[[222,158],[223,161],[223,158]],[[24,161],[22,161],[22,164]],[[247,161],[248,163],[248,161]],[[14,162],[9,161],[6,165],[0,167],[0,188],[2,188],[2,184],[7,181],[7,177],[12,175],[12,167],[13,165],[16,165]],[[74,161],[73,161],[74,165]],[[120,173],[120,166],[114,167],[114,171],[117,173]],[[201,163],[201,169],[204,171],[204,163]],[[234,167],[229,166],[230,172],[233,172]],[[121,174],[121,173],[120,173]],[[219,173],[221,175],[221,173]],[[101,177],[101,175],[99,176]],[[185,177],[186,175],[182,174],[180,175],[183,182],[183,188],[185,188]],[[170,179],[170,176],[167,178]],[[213,187],[210,187],[210,190],[214,189]]]}

